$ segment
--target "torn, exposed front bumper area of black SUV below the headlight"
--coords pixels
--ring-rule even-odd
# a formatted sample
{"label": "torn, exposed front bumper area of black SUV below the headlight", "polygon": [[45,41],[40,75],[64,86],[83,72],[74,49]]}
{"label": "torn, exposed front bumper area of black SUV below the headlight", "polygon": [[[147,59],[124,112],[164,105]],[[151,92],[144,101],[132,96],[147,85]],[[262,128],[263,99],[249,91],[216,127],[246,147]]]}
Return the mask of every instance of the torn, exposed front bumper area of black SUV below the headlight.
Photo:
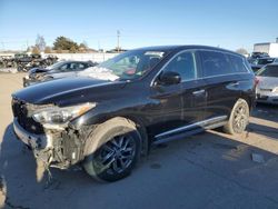
{"label": "torn, exposed front bumper area of black SUV below the headlight", "polygon": [[44,130],[34,135],[24,130],[13,120],[13,131],[19,140],[32,149],[37,159],[50,167],[67,169],[82,160],[83,142],[80,131],[72,129]]}

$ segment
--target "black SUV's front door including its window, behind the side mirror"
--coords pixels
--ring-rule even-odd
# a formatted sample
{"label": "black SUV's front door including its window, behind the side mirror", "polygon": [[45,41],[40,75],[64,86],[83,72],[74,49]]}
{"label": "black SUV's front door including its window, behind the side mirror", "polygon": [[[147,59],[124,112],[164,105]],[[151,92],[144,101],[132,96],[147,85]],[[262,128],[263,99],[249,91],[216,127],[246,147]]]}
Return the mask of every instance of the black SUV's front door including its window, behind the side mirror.
{"label": "black SUV's front door including its window, behind the side mirror", "polygon": [[182,51],[175,56],[160,72],[175,71],[181,82],[163,86],[155,82],[152,97],[158,100],[159,109],[158,138],[179,133],[192,123],[203,119],[206,110],[206,91],[203,81],[199,79],[197,57],[193,51]]}

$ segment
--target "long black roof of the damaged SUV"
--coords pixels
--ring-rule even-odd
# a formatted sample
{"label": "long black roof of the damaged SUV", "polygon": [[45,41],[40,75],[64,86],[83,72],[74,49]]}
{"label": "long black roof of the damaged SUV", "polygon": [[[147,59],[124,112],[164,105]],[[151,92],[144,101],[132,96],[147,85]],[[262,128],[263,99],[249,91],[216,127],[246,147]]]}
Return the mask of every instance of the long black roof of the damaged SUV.
{"label": "long black roof of the damaged SUV", "polygon": [[[198,44],[188,44],[188,46],[155,46],[155,47],[145,47],[145,48],[138,48],[135,50],[161,50],[161,51],[181,51],[181,50],[187,50],[187,49],[205,49],[205,50],[215,50],[215,51],[220,51],[220,52],[228,52],[228,53],[234,53],[237,56],[241,56],[235,51],[230,51],[227,49],[222,48],[217,48],[217,47],[209,47],[209,46],[198,46]],[[241,56],[244,57],[244,56]]]}

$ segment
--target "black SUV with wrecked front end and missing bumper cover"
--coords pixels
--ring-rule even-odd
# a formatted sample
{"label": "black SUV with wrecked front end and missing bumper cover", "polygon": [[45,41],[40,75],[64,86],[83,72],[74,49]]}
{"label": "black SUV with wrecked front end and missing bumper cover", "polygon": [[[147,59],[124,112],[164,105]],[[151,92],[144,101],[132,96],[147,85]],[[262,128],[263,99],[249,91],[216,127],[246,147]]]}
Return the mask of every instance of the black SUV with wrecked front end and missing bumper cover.
{"label": "black SUV with wrecked front end and missing bumper cover", "polygon": [[82,162],[106,181],[128,176],[151,143],[241,133],[255,101],[246,58],[218,48],[142,48],[86,71],[13,93],[13,129],[48,166]]}

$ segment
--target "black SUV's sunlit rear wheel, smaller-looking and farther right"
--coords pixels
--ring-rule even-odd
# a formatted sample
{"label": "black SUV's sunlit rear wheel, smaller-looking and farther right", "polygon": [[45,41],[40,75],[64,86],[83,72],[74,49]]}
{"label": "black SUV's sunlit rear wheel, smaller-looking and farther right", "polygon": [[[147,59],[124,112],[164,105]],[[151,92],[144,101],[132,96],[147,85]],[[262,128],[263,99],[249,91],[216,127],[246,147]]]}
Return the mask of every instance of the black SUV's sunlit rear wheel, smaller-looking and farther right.
{"label": "black SUV's sunlit rear wheel, smaller-looking and farther right", "polygon": [[245,99],[238,99],[235,103],[228,122],[224,126],[224,132],[240,135],[245,131],[249,120],[249,106]]}

